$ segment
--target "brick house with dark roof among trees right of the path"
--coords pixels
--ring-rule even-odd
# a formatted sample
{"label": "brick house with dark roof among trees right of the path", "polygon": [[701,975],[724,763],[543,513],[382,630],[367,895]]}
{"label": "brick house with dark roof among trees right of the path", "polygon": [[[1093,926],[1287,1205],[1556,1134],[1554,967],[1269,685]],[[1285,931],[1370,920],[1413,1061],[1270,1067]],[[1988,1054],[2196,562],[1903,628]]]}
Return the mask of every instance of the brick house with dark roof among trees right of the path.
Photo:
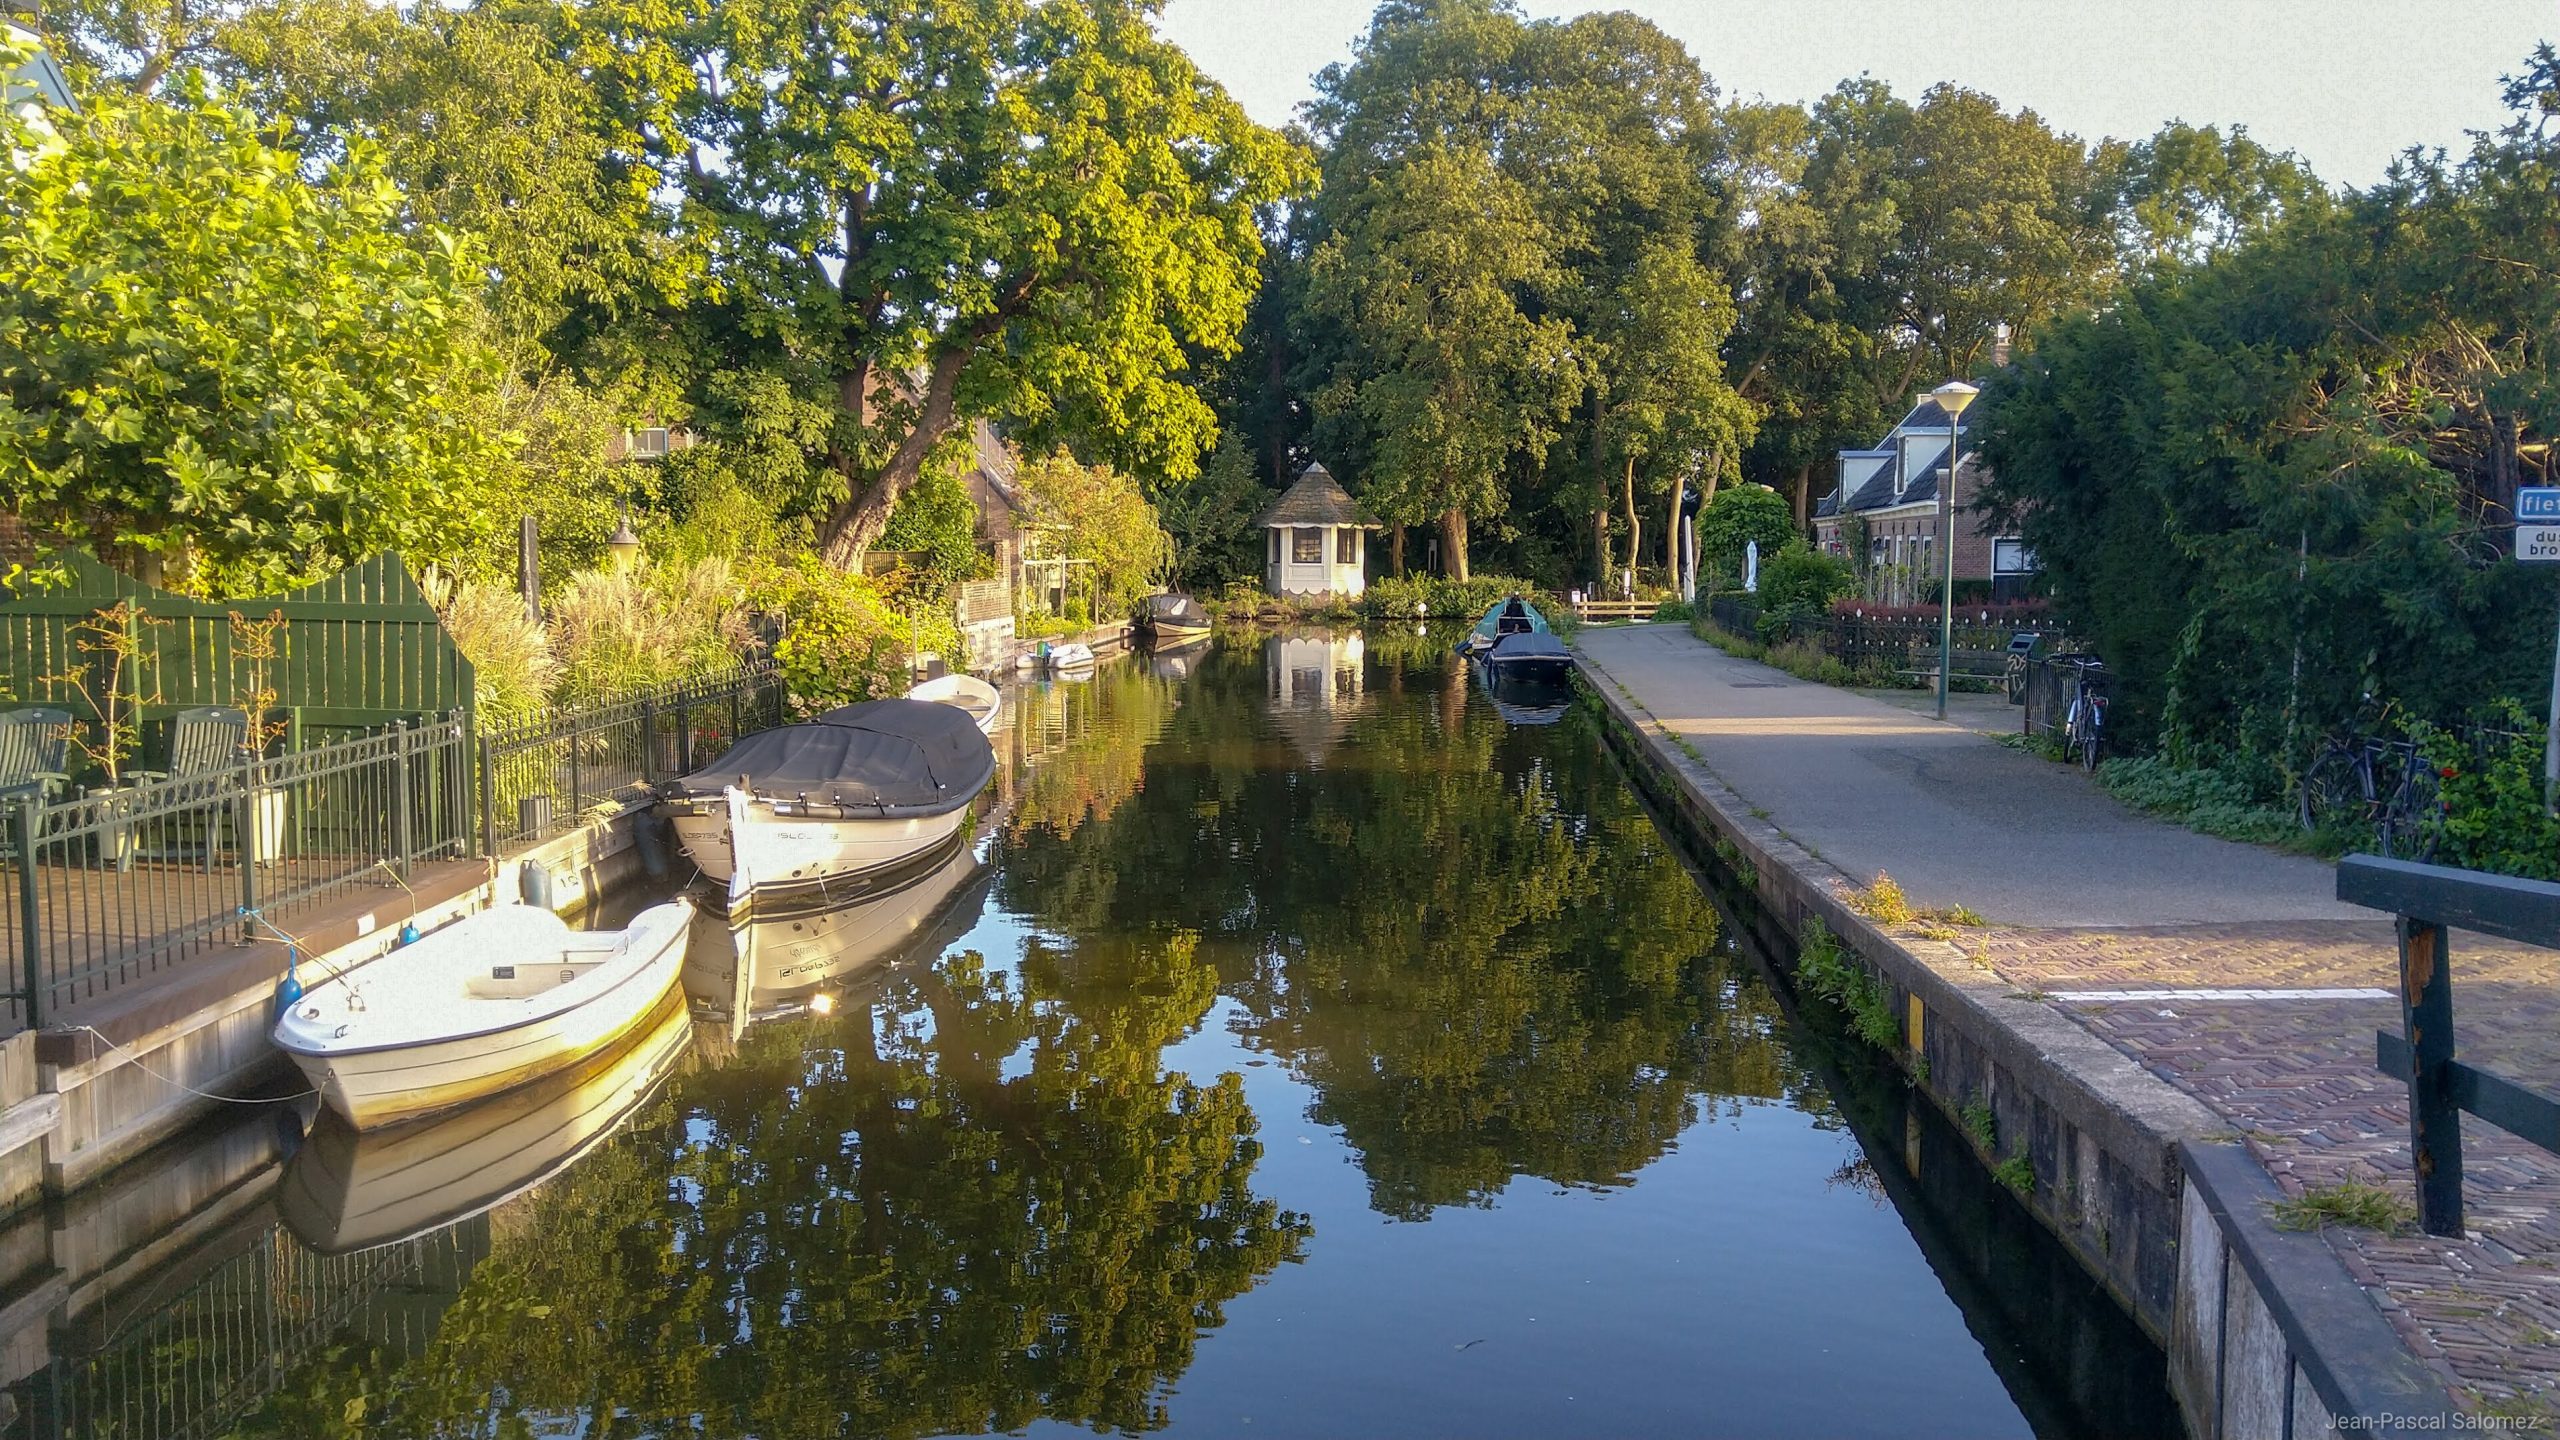
{"label": "brick house with dark roof among trees right of the path", "polygon": [[[1928,605],[1940,594],[1946,502],[1956,505],[1956,582],[1989,582],[1994,600],[2020,600],[2035,582],[2035,553],[1974,510],[1989,474],[1974,454],[1976,400],[1956,425],[1956,479],[1946,474],[1946,410],[1920,395],[1876,446],[1841,451],[1841,479],[1812,510],[1820,548],[1859,566],[1866,597],[1882,605]],[[1851,553],[1864,533],[1866,553]]]}

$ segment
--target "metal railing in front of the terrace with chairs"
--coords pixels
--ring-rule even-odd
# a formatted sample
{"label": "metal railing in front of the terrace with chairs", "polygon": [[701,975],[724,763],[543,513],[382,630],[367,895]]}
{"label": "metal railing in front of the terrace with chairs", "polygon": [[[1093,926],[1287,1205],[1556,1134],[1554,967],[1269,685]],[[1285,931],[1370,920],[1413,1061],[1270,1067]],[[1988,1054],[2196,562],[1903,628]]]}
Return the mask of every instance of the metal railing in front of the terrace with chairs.
{"label": "metal railing in front of the terrace with chairs", "polygon": [[92,789],[0,817],[5,1020],[166,971],[340,889],[471,851],[463,717]]}

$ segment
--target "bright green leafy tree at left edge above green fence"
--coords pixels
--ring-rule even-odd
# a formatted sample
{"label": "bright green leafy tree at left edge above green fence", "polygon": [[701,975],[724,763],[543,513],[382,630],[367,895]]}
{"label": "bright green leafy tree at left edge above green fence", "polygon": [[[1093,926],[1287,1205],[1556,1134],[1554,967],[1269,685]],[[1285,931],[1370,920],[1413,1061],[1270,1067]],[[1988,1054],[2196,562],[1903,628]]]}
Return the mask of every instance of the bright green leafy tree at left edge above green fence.
{"label": "bright green leafy tree at left edge above green fence", "polygon": [[471,251],[369,149],[305,174],[195,79],[0,126],[0,495],[41,538],[218,597],[494,548]]}

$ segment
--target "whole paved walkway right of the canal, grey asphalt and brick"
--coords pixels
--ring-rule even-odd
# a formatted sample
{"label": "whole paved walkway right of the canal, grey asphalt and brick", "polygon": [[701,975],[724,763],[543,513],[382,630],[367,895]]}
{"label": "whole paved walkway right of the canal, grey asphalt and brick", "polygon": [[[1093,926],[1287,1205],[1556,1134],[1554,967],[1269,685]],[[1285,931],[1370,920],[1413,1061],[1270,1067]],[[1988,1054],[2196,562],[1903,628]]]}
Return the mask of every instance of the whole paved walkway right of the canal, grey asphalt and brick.
{"label": "whole paved walkway right of the canal, grey asphalt and brick", "polygon": [[[2330,866],[2135,815],[1987,738],[1979,707],[1938,723],[1677,625],[1577,646],[1805,848],[1987,915],[1966,953],[2220,1112],[2289,1194],[2412,1197],[2406,1089],[2373,1068],[2373,1030],[2399,1027],[2391,925],[2337,904]],[[2455,935],[2452,974],[2463,1058],[2560,1089],[2560,951]],[[2468,1117],[2463,1140],[2465,1240],[2327,1240],[2458,1394],[2560,1414],[2560,1156]]]}

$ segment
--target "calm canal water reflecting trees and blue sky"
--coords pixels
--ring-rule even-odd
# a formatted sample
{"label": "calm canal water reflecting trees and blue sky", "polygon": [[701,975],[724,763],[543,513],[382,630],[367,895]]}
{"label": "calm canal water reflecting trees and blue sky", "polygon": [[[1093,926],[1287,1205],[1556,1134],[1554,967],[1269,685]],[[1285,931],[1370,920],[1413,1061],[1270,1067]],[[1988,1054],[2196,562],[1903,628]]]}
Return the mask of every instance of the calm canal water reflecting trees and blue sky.
{"label": "calm canal water reflecting trees and blue sky", "polygon": [[[2176,1435],[2158,1350],[1792,1017],[1590,702],[1498,705],[1441,633],[1221,635],[1009,692],[998,751],[919,887],[696,925],[696,979],[742,951],[768,1015],[279,1140],[282,1222],[67,1343],[46,1404],[261,1437]],[[225,1304],[284,1320],[243,1340]],[[225,1345],[264,1353],[200,1384]]]}

